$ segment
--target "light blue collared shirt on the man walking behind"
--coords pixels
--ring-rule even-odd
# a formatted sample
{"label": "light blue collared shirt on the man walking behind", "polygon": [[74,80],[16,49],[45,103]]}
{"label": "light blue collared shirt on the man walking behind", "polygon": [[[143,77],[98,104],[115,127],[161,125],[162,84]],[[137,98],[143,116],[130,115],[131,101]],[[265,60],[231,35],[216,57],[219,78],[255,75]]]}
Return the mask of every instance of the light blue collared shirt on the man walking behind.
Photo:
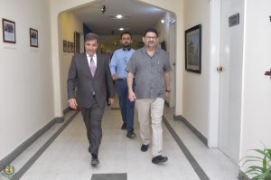
{"label": "light blue collared shirt on the man walking behind", "polygon": [[134,49],[128,51],[123,48],[114,52],[110,62],[111,74],[117,74],[118,78],[125,79],[127,77],[126,65],[134,52]]}

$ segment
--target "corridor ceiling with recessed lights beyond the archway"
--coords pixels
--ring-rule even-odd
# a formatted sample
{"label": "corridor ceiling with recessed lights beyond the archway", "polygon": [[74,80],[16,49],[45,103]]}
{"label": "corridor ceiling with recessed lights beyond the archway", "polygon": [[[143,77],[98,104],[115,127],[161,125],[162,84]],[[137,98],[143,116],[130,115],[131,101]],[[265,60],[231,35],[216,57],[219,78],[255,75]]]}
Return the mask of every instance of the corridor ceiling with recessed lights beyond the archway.
{"label": "corridor ceiling with recessed lights beyond the archway", "polygon": [[[102,13],[105,5],[106,10]],[[118,28],[127,28],[132,34],[143,34],[145,29],[161,21],[163,9],[139,3],[137,0],[97,0],[90,5],[77,7],[72,12],[87,24],[93,33],[120,34]],[[124,14],[126,19],[113,19],[110,16]]]}

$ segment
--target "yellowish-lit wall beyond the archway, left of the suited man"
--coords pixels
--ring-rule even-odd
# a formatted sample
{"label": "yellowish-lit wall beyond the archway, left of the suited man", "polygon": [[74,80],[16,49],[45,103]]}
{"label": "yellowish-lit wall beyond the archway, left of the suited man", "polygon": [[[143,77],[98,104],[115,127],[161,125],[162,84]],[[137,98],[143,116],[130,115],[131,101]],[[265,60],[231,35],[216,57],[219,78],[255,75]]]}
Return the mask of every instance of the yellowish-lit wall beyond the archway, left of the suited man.
{"label": "yellowish-lit wall beyond the archway, left of the suited man", "polygon": [[[74,43],[74,32],[83,36],[83,23],[72,13],[64,12],[59,15],[59,42],[60,43],[60,76],[61,76],[61,109],[66,109],[67,80],[73,52],[63,52],[63,40]],[[83,41],[80,41],[80,52],[83,52]]]}

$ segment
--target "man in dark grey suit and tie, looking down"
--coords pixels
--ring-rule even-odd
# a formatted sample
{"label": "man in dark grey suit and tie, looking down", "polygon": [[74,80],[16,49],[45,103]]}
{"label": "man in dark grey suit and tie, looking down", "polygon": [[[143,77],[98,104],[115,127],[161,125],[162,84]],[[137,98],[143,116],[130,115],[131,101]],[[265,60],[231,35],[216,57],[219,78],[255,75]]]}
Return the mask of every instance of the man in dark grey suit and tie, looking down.
{"label": "man in dark grey suit and tie, looking down", "polygon": [[115,90],[107,56],[97,53],[97,34],[86,35],[85,49],[86,52],[76,54],[70,62],[68,103],[70,108],[81,110],[87,128],[91,165],[97,166],[98,147],[102,138],[101,118],[106,105],[107,90],[108,103],[111,105],[114,103]]}

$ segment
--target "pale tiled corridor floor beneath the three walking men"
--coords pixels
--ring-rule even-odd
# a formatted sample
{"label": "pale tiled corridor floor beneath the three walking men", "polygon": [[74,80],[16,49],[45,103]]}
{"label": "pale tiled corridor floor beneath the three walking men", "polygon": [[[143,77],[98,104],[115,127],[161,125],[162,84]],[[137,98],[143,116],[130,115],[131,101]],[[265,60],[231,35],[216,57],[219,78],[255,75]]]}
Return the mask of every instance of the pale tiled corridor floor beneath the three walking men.
{"label": "pale tiled corridor floor beneath the three walking men", "polygon": [[[173,109],[165,108],[164,117],[210,179],[238,179],[237,166],[220,150],[205,147],[181,121],[173,120]],[[152,149],[149,148],[147,152],[140,151],[137,117],[135,116],[135,139],[126,137],[126,131],[120,130],[121,124],[120,111],[107,108],[102,121],[103,138],[98,156],[100,165],[93,167],[90,166],[85,125],[79,113],[21,179],[90,180],[92,174],[114,173],[126,173],[127,180],[202,179],[165,126],[164,156],[168,156],[169,161],[164,165],[154,165],[151,162]]]}

